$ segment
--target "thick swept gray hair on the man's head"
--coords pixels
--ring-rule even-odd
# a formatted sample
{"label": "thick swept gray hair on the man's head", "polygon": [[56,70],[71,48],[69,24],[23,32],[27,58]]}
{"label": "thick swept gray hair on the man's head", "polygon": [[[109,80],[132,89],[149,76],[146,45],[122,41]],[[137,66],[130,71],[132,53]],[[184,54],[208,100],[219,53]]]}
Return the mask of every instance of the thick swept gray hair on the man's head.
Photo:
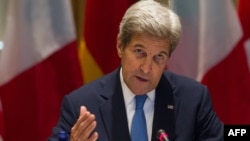
{"label": "thick swept gray hair on the man's head", "polygon": [[118,38],[126,46],[134,33],[148,33],[170,41],[170,55],[181,34],[181,23],[169,5],[153,0],[141,0],[127,9],[119,27]]}

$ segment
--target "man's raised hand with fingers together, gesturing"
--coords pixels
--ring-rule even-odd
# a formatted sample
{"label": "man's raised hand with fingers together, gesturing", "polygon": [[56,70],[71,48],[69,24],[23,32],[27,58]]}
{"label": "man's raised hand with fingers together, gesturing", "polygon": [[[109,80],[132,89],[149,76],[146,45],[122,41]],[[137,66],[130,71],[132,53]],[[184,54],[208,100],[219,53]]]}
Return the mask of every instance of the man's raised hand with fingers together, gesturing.
{"label": "man's raised hand with fingers together, gesturing", "polygon": [[91,114],[85,106],[81,106],[80,116],[71,128],[70,141],[96,141],[98,133],[92,133],[95,128],[95,115]]}

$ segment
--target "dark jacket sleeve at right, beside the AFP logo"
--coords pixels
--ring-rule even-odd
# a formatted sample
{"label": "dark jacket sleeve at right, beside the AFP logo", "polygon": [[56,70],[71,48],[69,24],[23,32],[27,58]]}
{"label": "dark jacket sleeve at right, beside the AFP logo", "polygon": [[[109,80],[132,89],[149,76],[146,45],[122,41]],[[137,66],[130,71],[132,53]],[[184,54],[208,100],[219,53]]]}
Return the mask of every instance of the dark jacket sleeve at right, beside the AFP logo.
{"label": "dark jacket sleeve at right, beside the AFP logo", "polygon": [[224,141],[224,125],[216,115],[210,93],[205,87],[197,116],[199,141]]}

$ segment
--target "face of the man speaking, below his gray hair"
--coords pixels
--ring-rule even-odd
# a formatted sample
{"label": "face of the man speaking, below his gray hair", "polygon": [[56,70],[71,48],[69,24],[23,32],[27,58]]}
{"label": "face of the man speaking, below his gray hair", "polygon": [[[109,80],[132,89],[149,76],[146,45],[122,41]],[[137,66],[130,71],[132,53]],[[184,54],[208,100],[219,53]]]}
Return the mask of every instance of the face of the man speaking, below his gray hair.
{"label": "face of the man speaking, below his gray hair", "polygon": [[125,47],[118,39],[123,79],[133,93],[145,94],[157,87],[169,60],[169,48],[168,39],[148,34],[133,35]]}

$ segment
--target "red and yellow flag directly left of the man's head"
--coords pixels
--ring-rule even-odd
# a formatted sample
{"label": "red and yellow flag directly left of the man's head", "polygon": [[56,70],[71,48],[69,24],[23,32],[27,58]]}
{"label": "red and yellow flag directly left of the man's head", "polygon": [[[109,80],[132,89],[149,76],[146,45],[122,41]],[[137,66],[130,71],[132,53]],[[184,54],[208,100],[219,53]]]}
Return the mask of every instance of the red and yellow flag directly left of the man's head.
{"label": "red and yellow flag directly left of the man's head", "polygon": [[119,23],[135,1],[86,1],[79,55],[84,83],[111,72],[120,64],[116,52]]}

